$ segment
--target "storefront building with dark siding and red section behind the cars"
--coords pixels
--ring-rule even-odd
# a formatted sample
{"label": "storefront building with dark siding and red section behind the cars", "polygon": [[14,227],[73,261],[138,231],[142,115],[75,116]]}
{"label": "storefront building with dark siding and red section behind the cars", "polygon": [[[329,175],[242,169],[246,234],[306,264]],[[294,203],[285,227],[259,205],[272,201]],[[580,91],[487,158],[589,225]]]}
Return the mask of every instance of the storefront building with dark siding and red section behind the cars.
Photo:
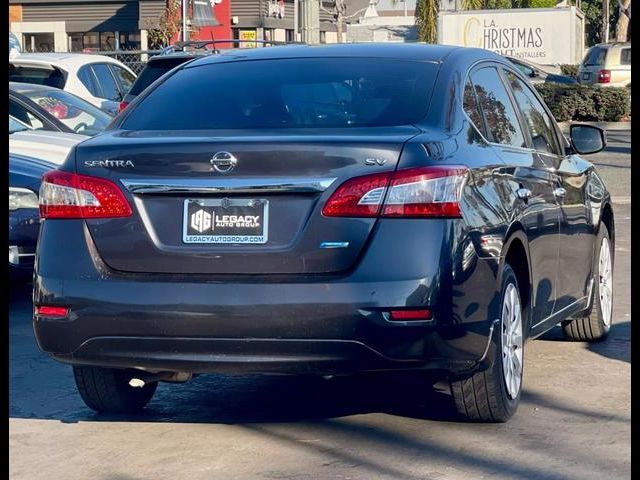
{"label": "storefront building with dark siding and red section behind the cars", "polygon": [[[198,27],[190,31],[191,39],[241,39],[243,46],[252,46],[251,40],[300,40],[294,28],[297,0],[195,1],[210,2],[219,25]],[[331,10],[330,0],[323,4]],[[26,52],[147,50],[154,47],[149,31],[158,27],[165,8],[166,0],[9,0],[9,30]],[[178,39],[176,34],[173,41]],[[325,10],[320,11],[320,41],[336,41],[333,16]]]}

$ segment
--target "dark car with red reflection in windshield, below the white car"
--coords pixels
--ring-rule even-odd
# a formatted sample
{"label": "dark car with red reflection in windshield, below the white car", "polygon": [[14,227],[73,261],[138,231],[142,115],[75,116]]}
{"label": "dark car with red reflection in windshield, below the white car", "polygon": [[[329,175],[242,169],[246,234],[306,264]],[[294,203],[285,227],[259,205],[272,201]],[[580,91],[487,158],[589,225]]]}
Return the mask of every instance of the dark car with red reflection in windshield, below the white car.
{"label": "dark car with red reflection in windshield, below the white car", "polygon": [[111,115],[58,88],[9,82],[9,115],[34,130],[93,136],[103,131]]}

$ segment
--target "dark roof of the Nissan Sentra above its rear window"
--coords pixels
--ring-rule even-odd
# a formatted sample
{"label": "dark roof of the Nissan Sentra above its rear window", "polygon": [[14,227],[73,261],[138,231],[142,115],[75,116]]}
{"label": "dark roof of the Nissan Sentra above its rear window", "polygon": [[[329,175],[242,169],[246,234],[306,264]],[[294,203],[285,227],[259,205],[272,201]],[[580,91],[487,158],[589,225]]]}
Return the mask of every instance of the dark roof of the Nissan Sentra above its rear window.
{"label": "dark roof of the Nissan Sentra above its rear window", "polygon": [[[371,57],[392,58],[398,60],[418,60],[440,63],[451,52],[463,49],[450,45],[426,43],[341,43],[324,45],[282,45],[269,48],[236,48],[221,52],[219,55],[207,55],[189,63],[188,68],[210,63],[266,60],[277,58],[322,58],[322,57]],[[482,50],[487,55],[495,55]]]}

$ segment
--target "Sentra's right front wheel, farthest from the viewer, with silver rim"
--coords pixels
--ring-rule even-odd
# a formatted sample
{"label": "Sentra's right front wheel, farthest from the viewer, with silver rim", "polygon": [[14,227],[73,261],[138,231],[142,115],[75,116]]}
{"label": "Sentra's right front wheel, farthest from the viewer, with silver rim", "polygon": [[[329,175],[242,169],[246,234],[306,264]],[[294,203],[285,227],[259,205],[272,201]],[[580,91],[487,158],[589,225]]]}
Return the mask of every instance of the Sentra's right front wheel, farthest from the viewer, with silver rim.
{"label": "Sentra's right front wheel, farthest from the viewer, with silver rim", "polygon": [[596,243],[596,264],[591,313],[562,323],[567,338],[581,342],[603,340],[611,329],[613,316],[613,256],[609,231],[603,224]]}

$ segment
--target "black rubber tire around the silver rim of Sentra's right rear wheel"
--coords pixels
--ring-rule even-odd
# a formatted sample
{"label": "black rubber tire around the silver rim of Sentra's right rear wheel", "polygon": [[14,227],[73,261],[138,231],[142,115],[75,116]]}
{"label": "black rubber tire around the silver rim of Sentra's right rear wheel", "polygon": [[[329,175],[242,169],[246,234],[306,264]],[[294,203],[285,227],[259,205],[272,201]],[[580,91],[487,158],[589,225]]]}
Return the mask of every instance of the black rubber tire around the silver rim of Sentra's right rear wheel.
{"label": "black rubber tire around the silver rim of Sentra's right rear wheel", "polygon": [[[515,398],[511,398],[507,390],[502,363],[502,306],[505,292],[510,284],[515,286],[519,300],[518,280],[511,266],[506,264],[500,290],[500,311],[497,314],[500,317],[500,326],[497,332],[494,331],[494,338],[497,336],[498,341],[489,348],[487,353],[493,357],[491,367],[470,376],[452,378],[450,381],[456,410],[463,419],[468,421],[506,422],[516,412],[520,403],[522,381],[520,381],[517,395]],[[527,328],[525,312],[528,309],[522,308],[521,302],[520,307],[521,332],[524,335]],[[524,345],[524,337],[522,345]],[[524,364],[524,349],[522,350],[522,364]],[[524,368],[522,368],[522,372],[524,372]]]}

